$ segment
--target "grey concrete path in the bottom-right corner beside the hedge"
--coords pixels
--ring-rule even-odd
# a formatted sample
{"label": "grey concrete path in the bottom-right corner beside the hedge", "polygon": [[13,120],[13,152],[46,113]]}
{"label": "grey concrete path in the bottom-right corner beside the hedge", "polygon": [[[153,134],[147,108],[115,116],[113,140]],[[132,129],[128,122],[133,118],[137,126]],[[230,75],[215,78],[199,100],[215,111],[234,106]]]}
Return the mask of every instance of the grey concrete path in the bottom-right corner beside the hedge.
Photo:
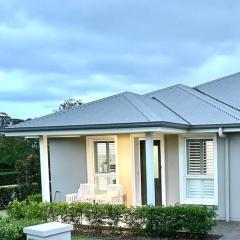
{"label": "grey concrete path in the bottom-right corner beside the hedge", "polygon": [[221,240],[240,240],[240,222],[219,221],[212,232],[216,235],[223,235]]}

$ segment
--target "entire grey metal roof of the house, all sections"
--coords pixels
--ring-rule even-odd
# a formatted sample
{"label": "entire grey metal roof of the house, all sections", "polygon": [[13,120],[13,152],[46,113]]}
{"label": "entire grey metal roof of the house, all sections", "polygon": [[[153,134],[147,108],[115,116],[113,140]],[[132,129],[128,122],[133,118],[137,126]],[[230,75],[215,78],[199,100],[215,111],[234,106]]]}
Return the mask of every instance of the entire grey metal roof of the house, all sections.
{"label": "entire grey metal roof of the house, all sections", "polygon": [[195,88],[174,85],[145,95],[124,92],[52,113],[5,131],[175,126],[240,126],[240,73]]}

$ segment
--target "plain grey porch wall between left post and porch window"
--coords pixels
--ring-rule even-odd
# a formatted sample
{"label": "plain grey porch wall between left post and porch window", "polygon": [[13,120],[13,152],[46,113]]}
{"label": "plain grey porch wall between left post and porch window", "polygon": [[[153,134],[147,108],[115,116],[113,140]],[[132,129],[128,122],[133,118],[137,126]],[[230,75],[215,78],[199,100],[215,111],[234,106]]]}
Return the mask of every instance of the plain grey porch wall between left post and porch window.
{"label": "plain grey porch wall between left post and porch window", "polygon": [[87,182],[86,138],[49,140],[52,200],[64,201],[80,183]]}

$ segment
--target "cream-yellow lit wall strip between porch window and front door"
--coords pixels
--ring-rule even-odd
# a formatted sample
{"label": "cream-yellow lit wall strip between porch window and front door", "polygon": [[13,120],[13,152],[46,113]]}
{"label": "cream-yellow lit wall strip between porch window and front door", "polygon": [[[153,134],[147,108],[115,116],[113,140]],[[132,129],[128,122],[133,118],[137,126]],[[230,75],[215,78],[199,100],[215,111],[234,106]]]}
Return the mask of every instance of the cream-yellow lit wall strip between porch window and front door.
{"label": "cream-yellow lit wall strip between porch window and front door", "polygon": [[130,134],[118,135],[118,179],[127,194],[127,205],[132,205],[133,167],[132,167],[132,145]]}

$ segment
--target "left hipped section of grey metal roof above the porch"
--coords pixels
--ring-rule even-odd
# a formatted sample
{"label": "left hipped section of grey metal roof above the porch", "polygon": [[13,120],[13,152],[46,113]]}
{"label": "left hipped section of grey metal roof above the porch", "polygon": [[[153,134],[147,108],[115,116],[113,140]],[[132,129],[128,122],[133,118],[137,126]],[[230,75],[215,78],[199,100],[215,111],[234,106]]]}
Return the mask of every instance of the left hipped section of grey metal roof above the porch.
{"label": "left hipped section of grey metal roof above the porch", "polygon": [[146,122],[186,124],[157,101],[124,92],[73,109],[22,122],[9,129]]}

